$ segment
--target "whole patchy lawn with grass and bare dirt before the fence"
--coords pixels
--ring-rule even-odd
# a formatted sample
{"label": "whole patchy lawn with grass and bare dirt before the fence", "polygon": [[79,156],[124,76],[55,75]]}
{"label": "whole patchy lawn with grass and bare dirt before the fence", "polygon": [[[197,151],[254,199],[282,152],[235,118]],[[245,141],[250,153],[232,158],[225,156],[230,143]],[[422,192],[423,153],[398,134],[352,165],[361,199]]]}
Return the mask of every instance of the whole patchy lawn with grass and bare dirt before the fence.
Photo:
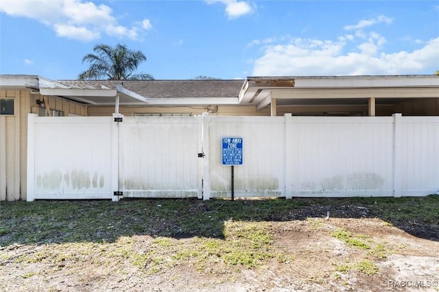
{"label": "whole patchy lawn with grass and bare dirt before the fence", "polygon": [[0,291],[439,291],[438,195],[0,211]]}

